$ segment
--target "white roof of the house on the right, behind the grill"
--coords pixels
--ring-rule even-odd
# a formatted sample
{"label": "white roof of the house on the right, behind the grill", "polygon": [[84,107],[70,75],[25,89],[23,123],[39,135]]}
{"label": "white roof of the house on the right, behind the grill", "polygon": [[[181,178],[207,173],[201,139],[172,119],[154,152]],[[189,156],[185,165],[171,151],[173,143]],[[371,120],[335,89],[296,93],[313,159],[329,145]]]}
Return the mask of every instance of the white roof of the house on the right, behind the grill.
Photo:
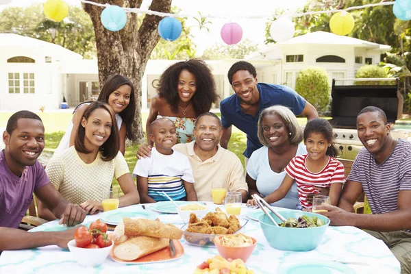
{"label": "white roof of the house on the right, behind the grill", "polygon": [[[264,58],[265,53],[279,49],[282,45],[347,45],[353,47],[363,47],[365,49],[379,49],[380,51],[390,51],[391,47],[388,45],[380,45],[374,42],[352,38],[349,36],[340,36],[330,32],[312,32],[304,34],[287,40],[285,42],[277,42],[270,47],[267,47],[260,53],[253,53],[247,58]],[[281,54],[275,56],[275,59],[281,58]]]}

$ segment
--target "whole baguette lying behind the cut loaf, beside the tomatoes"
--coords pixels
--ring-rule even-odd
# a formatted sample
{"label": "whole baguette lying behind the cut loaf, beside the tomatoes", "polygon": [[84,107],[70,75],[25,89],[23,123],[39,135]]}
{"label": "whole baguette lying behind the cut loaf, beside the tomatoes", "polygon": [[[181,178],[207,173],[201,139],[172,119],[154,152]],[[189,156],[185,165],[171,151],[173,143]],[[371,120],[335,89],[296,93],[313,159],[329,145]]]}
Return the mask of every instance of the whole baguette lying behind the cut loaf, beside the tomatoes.
{"label": "whole baguette lying behind the cut loaf, beside the tomatoes", "polygon": [[175,225],[164,224],[160,221],[147,219],[132,220],[123,218],[124,235],[127,236],[150,236],[154,238],[167,238],[179,240],[183,236],[182,229]]}

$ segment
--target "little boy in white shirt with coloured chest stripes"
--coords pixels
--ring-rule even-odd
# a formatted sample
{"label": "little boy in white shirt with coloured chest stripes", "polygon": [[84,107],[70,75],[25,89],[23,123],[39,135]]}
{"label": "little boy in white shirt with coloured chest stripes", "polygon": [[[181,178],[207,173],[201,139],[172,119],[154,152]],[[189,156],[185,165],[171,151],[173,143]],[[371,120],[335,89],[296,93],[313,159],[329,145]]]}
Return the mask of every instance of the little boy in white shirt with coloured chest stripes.
{"label": "little boy in white shirt with coloured chest stripes", "polygon": [[151,156],[138,160],[133,171],[141,203],[168,201],[163,191],[175,201],[197,201],[190,161],[172,149],[177,142],[173,121],[153,121],[149,137],[155,144]]}

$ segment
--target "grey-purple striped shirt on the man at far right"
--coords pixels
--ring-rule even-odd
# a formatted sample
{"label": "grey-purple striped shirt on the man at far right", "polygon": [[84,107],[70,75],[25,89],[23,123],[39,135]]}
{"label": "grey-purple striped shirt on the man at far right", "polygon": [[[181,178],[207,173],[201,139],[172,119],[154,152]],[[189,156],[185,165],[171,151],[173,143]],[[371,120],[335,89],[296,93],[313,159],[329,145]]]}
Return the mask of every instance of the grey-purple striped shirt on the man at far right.
{"label": "grey-purple striped shirt on the man at far right", "polygon": [[[362,148],[347,180],[362,184],[373,214],[397,211],[399,191],[411,190],[411,142],[399,139],[393,153],[381,164]],[[411,232],[411,227],[406,231]]]}

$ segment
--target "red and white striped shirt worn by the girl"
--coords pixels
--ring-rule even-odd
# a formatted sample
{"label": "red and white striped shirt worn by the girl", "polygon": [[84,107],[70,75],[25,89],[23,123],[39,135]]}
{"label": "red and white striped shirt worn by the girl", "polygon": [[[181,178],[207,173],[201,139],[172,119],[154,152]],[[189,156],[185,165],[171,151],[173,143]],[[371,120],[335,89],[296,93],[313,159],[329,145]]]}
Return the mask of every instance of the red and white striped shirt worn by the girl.
{"label": "red and white striped shirt worn by the girl", "polygon": [[323,170],[314,173],[307,169],[307,157],[308,154],[304,154],[292,158],[286,166],[286,173],[292,179],[295,179],[301,206],[303,208],[312,208],[312,204],[307,201],[308,195],[320,193],[320,191],[315,190],[313,187],[329,188],[331,184],[344,183],[344,165],[328,156],[328,162]]}

